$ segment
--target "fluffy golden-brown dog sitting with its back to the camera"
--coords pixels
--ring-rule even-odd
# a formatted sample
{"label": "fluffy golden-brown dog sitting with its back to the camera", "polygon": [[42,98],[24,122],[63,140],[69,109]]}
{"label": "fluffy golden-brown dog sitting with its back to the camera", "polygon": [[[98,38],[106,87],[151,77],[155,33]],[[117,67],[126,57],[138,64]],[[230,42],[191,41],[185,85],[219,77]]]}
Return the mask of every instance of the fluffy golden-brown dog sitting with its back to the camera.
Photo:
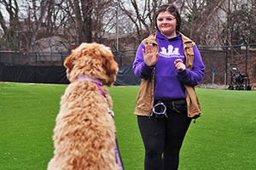
{"label": "fluffy golden-brown dog sitting with its back to the camera", "polygon": [[[71,82],[61,97],[49,170],[115,170],[112,99],[108,89],[118,64],[109,48],[82,43],[64,62]],[[105,95],[106,94],[106,95]]]}

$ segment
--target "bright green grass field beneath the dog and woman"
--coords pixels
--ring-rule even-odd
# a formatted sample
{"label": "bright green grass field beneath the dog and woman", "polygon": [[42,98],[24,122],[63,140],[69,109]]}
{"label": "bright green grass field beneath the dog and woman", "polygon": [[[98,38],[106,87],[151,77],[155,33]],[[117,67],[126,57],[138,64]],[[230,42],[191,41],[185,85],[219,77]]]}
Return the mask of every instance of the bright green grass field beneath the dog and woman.
{"label": "bright green grass field beneath the dog and woman", "polygon": [[[0,169],[45,170],[67,85],[0,83]],[[143,170],[143,143],[133,115],[138,87],[109,88],[125,170]],[[203,116],[191,123],[180,170],[256,169],[256,91],[196,88]]]}

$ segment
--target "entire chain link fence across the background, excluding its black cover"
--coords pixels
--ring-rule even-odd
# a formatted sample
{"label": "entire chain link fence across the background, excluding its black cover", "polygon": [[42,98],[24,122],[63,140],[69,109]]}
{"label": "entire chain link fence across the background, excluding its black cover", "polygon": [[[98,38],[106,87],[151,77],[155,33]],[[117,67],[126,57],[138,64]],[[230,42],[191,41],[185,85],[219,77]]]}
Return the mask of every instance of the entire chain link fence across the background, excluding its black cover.
{"label": "entire chain link fence across the background, excluding its black cover", "polygon": [[[202,84],[236,85],[236,77],[247,75],[247,83],[256,83],[256,43],[238,46],[199,46],[206,66]],[[0,51],[1,65],[62,66],[69,53],[25,53]],[[113,51],[119,67],[131,66],[136,49]],[[236,70],[232,70],[232,66]]]}

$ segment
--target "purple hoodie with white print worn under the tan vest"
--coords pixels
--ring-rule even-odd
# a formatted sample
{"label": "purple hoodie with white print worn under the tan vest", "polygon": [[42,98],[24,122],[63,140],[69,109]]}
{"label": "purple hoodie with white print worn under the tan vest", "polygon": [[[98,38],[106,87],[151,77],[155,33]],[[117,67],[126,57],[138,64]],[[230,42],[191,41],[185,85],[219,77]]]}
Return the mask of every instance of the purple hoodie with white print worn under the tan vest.
{"label": "purple hoodie with white print worn under the tan vest", "polygon": [[143,43],[137,48],[136,58],[133,62],[133,71],[137,77],[151,76],[155,67],[154,99],[185,99],[184,84],[195,86],[201,83],[204,77],[205,66],[201,54],[195,46],[193,69],[177,72],[173,64],[175,59],[182,59],[185,64],[183,42],[180,34],[177,37],[167,38],[156,31],[156,42],[159,45],[158,61],[155,66],[147,66],[143,59]]}

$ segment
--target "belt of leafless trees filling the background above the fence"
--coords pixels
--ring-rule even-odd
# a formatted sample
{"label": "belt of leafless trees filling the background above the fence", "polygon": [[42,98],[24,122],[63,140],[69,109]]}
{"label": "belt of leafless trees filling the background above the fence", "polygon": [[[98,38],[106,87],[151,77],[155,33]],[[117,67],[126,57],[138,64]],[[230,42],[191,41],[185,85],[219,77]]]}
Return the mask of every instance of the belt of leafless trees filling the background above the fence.
{"label": "belt of leafless trees filling the background above the fence", "polygon": [[155,31],[154,14],[164,3],[177,5],[181,31],[199,45],[256,41],[255,0],[1,0],[0,40],[10,50],[32,50],[46,37],[60,37],[71,48],[81,42],[136,48]]}

